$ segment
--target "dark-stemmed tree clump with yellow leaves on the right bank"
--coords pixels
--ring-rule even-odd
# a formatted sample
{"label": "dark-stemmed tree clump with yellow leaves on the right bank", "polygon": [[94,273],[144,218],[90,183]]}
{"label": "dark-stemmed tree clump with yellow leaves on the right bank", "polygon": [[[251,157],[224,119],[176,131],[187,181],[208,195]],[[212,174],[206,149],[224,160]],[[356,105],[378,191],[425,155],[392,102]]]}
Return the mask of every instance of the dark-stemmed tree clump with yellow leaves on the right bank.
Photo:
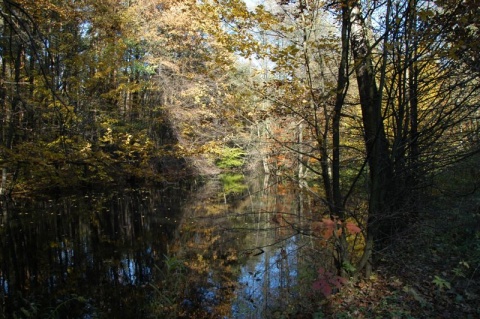
{"label": "dark-stemmed tree clump with yellow leaves on the right bank", "polygon": [[[225,4],[241,9],[236,3]],[[260,34],[268,34],[267,45],[260,45],[262,39],[257,38],[250,48],[264,48],[258,56],[267,59],[266,72],[272,74],[260,92],[284,129],[275,130],[270,123],[270,136],[274,145],[287,150],[287,158],[295,158],[300,167],[321,177],[323,193],[319,195],[331,218],[354,218],[363,225],[367,244],[363,257],[357,259],[360,271],[370,265],[374,252],[388,248],[416,217],[430,176],[472,151],[472,144],[459,145],[465,145],[475,130],[459,132],[457,127],[469,123],[476,112],[478,83],[473,72],[459,74],[460,68],[451,68],[467,64],[445,54],[452,52],[451,44],[439,39],[448,33],[432,25],[429,18],[442,15],[429,1],[280,5],[270,9],[277,22],[269,20],[261,26],[255,24],[255,11],[240,11],[263,30]],[[339,21],[338,37],[316,33],[319,22],[315,19],[325,10]],[[258,29],[251,27],[251,34],[255,33]],[[338,46],[331,46],[332,40]],[[337,50],[335,62],[325,60],[329,48]],[[332,68],[337,70],[333,77]],[[465,89],[468,98],[461,98]],[[362,135],[363,146],[353,139],[355,134]],[[353,164],[353,149],[363,163]],[[278,150],[272,155],[279,156]],[[347,178],[348,169],[342,169],[347,162],[353,164],[348,169],[356,171],[352,179]],[[274,168],[269,171],[278,171],[278,164]],[[367,169],[368,212],[358,214],[351,206],[357,201],[352,196],[361,197],[359,181]],[[340,270],[352,259],[345,239],[338,240]]]}

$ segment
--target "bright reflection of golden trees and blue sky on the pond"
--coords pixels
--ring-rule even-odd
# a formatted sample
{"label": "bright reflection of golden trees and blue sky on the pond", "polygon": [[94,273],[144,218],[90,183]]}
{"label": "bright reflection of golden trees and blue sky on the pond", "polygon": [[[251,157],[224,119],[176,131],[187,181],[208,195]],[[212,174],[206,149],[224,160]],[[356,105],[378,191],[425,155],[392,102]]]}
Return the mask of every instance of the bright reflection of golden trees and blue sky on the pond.
{"label": "bright reflection of golden trees and blue sky on the pond", "polygon": [[[301,229],[311,222],[315,203],[279,179],[253,181],[237,197],[222,197],[220,184],[211,181],[196,193],[201,197],[187,204],[180,225],[177,242],[184,244],[175,253],[196,269],[188,303],[197,311],[189,315],[272,318],[301,312],[309,292],[300,291],[299,283],[315,272],[304,260],[312,238]],[[208,269],[199,260],[209,260]]]}

